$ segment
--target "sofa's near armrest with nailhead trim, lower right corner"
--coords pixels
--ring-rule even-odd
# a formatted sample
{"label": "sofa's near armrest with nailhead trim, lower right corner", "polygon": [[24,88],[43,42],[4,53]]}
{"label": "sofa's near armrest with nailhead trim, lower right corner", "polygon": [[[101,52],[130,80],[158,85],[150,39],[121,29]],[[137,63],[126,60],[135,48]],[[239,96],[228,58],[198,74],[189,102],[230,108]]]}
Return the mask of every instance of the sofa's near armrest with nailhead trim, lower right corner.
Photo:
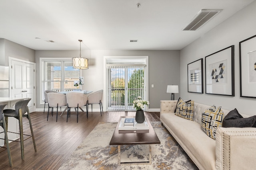
{"label": "sofa's near armrest with nailhead trim, lower right corner", "polygon": [[216,170],[255,167],[256,128],[219,127],[216,131]]}

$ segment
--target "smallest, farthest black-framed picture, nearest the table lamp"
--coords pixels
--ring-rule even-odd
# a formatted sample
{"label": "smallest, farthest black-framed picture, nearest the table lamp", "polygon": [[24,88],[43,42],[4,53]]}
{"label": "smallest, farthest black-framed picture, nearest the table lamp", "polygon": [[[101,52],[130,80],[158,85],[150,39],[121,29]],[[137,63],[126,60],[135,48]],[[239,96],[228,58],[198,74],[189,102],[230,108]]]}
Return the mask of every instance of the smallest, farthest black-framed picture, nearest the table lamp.
{"label": "smallest, farthest black-framed picture, nearest the table lamp", "polygon": [[188,64],[188,92],[203,93],[203,59]]}

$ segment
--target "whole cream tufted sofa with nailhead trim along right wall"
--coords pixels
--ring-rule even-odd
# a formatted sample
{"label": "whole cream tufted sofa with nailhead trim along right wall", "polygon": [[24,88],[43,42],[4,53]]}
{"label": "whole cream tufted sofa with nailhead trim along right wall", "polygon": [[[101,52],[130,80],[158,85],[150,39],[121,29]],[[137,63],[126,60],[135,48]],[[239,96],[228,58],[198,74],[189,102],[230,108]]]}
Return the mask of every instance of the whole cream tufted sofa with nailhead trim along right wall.
{"label": "whole cream tufted sofa with nailhead trim along right wall", "polygon": [[[177,102],[161,101],[160,121],[199,169],[256,169],[256,128],[219,127],[214,140],[201,129],[202,112],[210,106],[194,102],[194,121],[190,121],[174,115]],[[223,112],[229,113],[225,109]]]}

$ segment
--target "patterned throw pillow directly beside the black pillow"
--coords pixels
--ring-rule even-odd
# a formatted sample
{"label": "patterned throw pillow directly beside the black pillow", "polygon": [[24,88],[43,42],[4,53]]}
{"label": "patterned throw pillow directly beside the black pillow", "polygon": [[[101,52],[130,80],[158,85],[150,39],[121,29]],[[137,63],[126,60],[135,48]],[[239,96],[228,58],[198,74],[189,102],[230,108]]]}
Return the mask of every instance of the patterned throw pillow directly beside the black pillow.
{"label": "patterned throw pillow directly beside the black pillow", "polygon": [[224,113],[221,107],[212,106],[202,113],[201,128],[203,131],[215,140],[215,134],[218,127],[222,127]]}

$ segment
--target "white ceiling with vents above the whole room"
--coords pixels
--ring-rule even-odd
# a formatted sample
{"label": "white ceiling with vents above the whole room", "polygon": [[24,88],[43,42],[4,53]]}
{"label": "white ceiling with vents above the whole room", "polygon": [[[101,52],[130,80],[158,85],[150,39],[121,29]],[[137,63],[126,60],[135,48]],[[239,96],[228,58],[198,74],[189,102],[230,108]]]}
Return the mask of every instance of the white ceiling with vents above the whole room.
{"label": "white ceiling with vents above the whole room", "polygon": [[[90,50],[179,50],[253,1],[0,0],[0,38],[34,50],[79,50],[78,39]],[[222,12],[182,31],[202,9]]]}

